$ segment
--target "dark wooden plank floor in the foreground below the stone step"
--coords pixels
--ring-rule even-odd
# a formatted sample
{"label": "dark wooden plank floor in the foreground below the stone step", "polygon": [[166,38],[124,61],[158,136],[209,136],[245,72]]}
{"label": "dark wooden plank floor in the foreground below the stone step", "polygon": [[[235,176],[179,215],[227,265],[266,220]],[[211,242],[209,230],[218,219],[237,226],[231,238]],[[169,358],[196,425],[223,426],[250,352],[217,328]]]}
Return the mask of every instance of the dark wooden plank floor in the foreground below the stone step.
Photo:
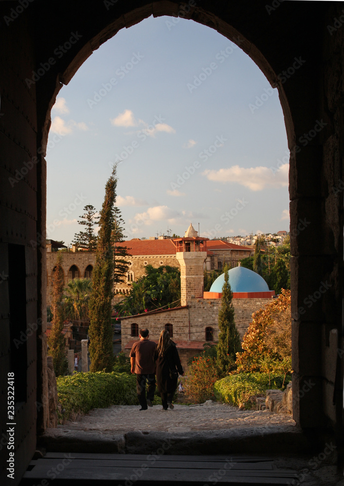
{"label": "dark wooden plank floor in the foreground below the stone step", "polygon": [[79,485],[288,485],[296,471],[277,469],[271,458],[243,455],[177,456],[48,452],[31,461],[20,486]]}

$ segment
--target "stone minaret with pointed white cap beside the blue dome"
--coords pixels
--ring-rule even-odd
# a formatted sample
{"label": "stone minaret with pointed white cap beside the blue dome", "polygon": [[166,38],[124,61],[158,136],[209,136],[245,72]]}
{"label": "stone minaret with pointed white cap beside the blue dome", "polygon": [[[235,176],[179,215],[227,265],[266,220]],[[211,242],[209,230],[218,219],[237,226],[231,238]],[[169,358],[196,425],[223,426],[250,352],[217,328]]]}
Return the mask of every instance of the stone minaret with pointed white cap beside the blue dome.
{"label": "stone minaret with pointed white cap beside the blue dome", "polygon": [[206,241],[200,238],[192,224],[184,238],[176,241],[176,257],[181,265],[181,305],[191,297],[203,297],[203,263],[207,258]]}

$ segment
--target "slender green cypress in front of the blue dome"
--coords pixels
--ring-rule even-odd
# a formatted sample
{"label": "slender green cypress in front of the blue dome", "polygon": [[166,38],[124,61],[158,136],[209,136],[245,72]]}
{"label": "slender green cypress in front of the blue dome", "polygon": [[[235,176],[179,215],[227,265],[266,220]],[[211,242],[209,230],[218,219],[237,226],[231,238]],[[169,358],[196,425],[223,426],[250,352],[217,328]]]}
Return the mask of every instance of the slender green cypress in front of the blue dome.
{"label": "slender green cypress in front of the blue dome", "polygon": [[218,311],[217,363],[223,372],[235,366],[236,353],[240,351],[240,337],[234,321],[233,292],[229,283],[228,270],[224,274],[221,307]]}

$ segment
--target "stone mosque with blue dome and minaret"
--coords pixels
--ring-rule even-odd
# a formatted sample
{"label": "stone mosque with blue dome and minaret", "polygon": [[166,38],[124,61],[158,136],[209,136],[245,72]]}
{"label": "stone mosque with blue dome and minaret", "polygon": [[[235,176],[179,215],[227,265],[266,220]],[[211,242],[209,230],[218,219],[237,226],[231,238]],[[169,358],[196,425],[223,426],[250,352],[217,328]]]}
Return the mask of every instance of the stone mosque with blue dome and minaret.
{"label": "stone mosque with blue dome and minaret", "polygon": [[[187,360],[203,350],[207,342],[218,340],[218,310],[221,304],[223,274],[215,280],[210,292],[203,292],[203,268],[209,242],[189,226],[183,238],[176,239],[177,260],[181,266],[181,306],[122,317],[122,350],[128,354],[138,340],[139,330],[148,328],[150,339],[158,342],[166,329],[177,345],[184,368]],[[265,280],[252,270],[239,266],[229,271],[233,287],[235,324],[243,338],[252,313],[271,301]]]}

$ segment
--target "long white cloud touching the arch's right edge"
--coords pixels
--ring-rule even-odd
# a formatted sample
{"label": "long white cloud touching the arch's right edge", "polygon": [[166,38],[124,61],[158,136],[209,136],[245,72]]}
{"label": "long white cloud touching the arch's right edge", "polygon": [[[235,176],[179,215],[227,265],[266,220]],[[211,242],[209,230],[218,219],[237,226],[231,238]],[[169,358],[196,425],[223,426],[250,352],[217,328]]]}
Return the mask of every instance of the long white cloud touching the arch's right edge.
{"label": "long white cloud touching the arch's right edge", "polygon": [[251,191],[262,191],[266,188],[287,187],[289,183],[289,164],[284,164],[279,171],[272,174],[269,167],[239,167],[233,165],[228,169],[206,170],[202,173],[209,180],[216,182],[236,182]]}

